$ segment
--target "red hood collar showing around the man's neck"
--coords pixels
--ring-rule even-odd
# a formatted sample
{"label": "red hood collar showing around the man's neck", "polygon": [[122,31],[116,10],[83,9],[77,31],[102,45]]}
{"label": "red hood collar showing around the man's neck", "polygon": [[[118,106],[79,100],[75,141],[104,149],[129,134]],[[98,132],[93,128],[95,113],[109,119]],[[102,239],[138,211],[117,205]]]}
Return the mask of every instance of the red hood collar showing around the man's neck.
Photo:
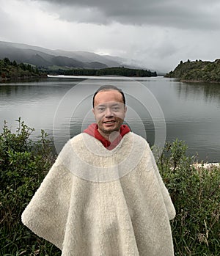
{"label": "red hood collar showing around the man's neck", "polygon": [[117,145],[120,143],[122,137],[125,134],[128,134],[129,131],[131,130],[128,127],[128,125],[121,125],[120,135],[117,136],[117,138],[114,139],[113,142],[109,142],[109,140],[105,139],[103,136],[100,135],[98,131],[98,125],[96,123],[92,123],[91,125],[89,125],[88,128],[85,129],[83,132],[93,136],[95,139],[98,139],[100,142],[102,142],[103,146],[106,147],[108,150],[113,150],[114,147],[117,147]]}

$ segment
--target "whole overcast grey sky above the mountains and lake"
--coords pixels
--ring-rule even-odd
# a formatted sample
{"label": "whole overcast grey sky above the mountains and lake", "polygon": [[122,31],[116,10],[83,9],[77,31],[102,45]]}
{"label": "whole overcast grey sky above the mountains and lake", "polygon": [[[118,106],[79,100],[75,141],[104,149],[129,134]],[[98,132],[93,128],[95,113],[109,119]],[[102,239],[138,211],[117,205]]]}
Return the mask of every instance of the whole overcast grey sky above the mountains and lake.
{"label": "whole overcast grey sky above the mountains and lake", "polygon": [[219,0],[0,0],[0,40],[92,51],[168,72],[220,58]]}

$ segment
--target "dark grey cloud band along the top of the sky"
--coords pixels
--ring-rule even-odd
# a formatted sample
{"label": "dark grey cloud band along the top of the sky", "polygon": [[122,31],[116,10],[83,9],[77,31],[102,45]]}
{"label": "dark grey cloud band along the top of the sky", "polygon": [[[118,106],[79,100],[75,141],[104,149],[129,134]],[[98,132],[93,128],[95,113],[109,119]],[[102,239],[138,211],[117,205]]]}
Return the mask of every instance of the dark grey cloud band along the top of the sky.
{"label": "dark grey cloud band along the top of the sky", "polygon": [[51,10],[67,21],[150,24],[180,29],[219,29],[220,27],[220,4],[217,0],[38,1],[49,3]]}

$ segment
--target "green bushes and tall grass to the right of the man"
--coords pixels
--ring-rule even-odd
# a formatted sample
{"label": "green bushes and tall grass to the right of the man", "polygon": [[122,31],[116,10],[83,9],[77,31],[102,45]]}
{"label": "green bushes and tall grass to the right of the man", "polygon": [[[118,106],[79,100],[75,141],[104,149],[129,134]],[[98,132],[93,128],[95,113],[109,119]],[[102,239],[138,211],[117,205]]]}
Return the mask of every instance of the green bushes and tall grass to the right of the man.
{"label": "green bushes and tall grass to the right of the man", "polygon": [[196,168],[186,150],[181,141],[167,143],[158,162],[177,212],[175,255],[220,255],[220,168]]}

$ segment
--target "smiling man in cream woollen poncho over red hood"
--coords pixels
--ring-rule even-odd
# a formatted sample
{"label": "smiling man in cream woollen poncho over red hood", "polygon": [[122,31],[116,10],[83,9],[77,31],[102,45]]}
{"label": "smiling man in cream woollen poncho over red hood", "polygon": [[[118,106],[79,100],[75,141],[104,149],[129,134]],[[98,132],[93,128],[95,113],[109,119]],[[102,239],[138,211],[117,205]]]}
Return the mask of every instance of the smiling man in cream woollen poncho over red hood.
{"label": "smiling man in cream woollen poncho over red hood", "polygon": [[64,256],[172,256],[175,208],[147,142],[122,125],[117,87],[93,97],[96,124],[73,137],[22,214]]}

